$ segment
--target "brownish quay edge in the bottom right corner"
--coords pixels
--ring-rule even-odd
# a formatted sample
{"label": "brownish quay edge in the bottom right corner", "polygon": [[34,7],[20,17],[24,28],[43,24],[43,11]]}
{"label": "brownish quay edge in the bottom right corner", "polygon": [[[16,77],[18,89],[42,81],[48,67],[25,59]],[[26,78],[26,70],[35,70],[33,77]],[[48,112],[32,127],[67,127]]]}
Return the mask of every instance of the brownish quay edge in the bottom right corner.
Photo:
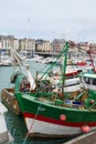
{"label": "brownish quay edge in the bottom right corner", "polygon": [[96,131],[83,134],[63,144],[96,144]]}

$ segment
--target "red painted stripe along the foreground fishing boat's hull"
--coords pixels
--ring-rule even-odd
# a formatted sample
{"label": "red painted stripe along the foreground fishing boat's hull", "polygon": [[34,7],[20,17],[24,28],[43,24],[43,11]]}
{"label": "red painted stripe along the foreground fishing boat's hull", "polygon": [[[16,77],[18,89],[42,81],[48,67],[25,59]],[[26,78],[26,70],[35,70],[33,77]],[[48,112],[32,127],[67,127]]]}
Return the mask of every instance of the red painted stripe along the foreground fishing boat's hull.
{"label": "red painted stripe along the foreground fishing boat's hull", "polygon": [[[23,116],[29,117],[29,119],[34,119],[35,114],[24,112]],[[46,116],[43,116],[43,115],[36,115],[35,120],[46,122],[46,123],[57,124],[57,125],[62,125],[62,126],[81,127],[81,126],[83,126],[85,124],[87,124],[88,126],[96,126],[96,122],[86,122],[86,123],[84,123],[84,122],[78,122],[78,123],[76,123],[76,122],[66,122],[66,121],[62,121],[62,120],[54,120],[54,119],[46,117]]]}

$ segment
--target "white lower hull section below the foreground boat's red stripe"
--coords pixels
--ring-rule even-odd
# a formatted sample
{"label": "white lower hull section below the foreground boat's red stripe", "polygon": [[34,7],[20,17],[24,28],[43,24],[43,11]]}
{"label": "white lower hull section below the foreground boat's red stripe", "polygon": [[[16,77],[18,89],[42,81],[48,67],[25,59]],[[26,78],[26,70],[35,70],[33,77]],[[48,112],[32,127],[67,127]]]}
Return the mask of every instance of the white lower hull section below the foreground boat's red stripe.
{"label": "white lower hull section below the foreground boat's red stripe", "polygon": [[82,133],[79,127],[64,126],[64,125],[43,122],[30,117],[24,117],[24,120],[30,136],[33,137],[68,137]]}

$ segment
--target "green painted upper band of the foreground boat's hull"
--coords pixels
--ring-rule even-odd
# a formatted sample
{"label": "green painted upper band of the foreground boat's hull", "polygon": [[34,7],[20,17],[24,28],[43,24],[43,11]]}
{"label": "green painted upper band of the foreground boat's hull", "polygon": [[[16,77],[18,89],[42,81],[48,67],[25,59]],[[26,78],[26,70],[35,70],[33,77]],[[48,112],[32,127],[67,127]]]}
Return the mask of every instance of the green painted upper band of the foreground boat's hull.
{"label": "green painted upper band of the foreground boat's hull", "polygon": [[[17,93],[22,112],[36,113],[39,106],[41,105],[43,111],[40,111],[39,115],[51,117],[54,120],[60,120],[60,114],[66,115],[66,122],[95,122],[96,121],[96,110],[88,111],[87,109],[79,109],[78,105],[68,104],[67,107],[55,105],[51,102],[40,102],[34,95]],[[61,102],[62,103],[62,102]],[[77,107],[76,107],[77,106]]]}

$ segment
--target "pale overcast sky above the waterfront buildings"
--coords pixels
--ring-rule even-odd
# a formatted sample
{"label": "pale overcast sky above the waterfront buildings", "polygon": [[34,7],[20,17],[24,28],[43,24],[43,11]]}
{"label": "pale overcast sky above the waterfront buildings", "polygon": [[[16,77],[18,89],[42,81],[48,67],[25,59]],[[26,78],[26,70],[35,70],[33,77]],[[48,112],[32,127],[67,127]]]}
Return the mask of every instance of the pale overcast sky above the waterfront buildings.
{"label": "pale overcast sky above the waterfront buildings", "polygon": [[96,42],[96,0],[0,0],[0,34]]}

